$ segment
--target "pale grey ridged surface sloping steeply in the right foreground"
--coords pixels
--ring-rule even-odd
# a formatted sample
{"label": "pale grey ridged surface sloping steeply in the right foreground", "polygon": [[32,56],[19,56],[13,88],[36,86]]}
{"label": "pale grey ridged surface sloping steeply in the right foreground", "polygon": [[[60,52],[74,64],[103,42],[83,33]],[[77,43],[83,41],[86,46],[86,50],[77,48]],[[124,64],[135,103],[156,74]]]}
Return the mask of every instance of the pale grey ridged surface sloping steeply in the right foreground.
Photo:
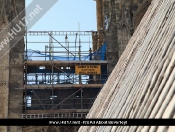
{"label": "pale grey ridged surface sloping steeply in the right foreground", "polygon": [[[87,119],[175,119],[174,21],[175,0],[151,2]],[[175,131],[175,126],[168,123],[153,123],[82,126],[78,132]]]}

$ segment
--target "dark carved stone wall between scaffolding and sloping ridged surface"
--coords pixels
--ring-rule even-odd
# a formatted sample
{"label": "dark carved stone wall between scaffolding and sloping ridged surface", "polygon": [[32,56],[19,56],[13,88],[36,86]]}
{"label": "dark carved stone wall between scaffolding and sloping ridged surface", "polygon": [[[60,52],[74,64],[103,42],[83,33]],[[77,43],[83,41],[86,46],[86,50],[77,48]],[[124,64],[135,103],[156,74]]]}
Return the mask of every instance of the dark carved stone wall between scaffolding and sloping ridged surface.
{"label": "dark carved stone wall between scaffolding and sloping ridged surface", "polygon": [[109,73],[118,62],[150,2],[151,0],[96,0],[97,29],[105,31],[105,36],[99,39],[103,39],[100,42],[107,42]]}

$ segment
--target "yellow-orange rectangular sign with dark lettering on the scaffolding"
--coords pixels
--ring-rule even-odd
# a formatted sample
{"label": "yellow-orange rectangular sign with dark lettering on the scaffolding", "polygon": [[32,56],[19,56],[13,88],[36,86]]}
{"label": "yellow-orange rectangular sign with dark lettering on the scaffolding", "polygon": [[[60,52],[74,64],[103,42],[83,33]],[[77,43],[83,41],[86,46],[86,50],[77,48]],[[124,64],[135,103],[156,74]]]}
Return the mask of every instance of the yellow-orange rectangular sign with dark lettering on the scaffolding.
{"label": "yellow-orange rectangular sign with dark lettering on the scaffolding", "polygon": [[76,65],[75,74],[90,75],[101,74],[100,65]]}

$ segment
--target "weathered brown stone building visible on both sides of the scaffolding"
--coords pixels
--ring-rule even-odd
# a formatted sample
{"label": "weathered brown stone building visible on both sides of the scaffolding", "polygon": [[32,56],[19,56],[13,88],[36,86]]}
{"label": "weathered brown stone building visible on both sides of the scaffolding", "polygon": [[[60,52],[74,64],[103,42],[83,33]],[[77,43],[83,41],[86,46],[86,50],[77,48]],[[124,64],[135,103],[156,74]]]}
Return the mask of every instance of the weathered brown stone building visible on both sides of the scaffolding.
{"label": "weathered brown stone building visible on both sides of the scaffolding", "polygon": [[[96,0],[97,29],[100,31],[93,40],[93,51],[97,50],[102,42],[107,42],[108,72],[111,73],[124,51],[129,39],[144,16],[151,0]],[[25,0],[0,0],[0,31],[2,31],[19,12],[25,7]],[[24,15],[23,15],[24,16]],[[16,21],[17,23],[17,21]],[[9,37],[6,32],[0,34],[0,40]],[[25,31],[23,28],[22,32]],[[24,39],[15,46],[9,42],[0,51],[0,118],[21,118],[23,113],[23,91],[14,88],[23,87]],[[13,46],[13,48],[11,48]],[[1,46],[2,47],[2,46]],[[10,49],[9,52],[8,49]],[[20,126],[0,127],[0,132],[22,131],[61,131],[57,127],[28,127]],[[77,131],[77,128],[64,131]]]}

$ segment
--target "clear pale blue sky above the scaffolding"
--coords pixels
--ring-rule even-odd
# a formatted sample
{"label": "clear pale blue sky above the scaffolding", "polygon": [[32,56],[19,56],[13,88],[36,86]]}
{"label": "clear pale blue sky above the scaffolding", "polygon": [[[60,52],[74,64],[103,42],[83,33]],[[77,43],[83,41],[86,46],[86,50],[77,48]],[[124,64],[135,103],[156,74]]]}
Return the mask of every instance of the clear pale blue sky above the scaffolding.
{"label": "clear pale blue sky above the scaffolding", "polygon": [[[31,2],[32,0],[26,0],[26,7]],[[94,0],[58,0],[30,31],[96,31],[96,21],[96,2]],[[49,40],[49,38],[38,36],[28,36],[27,39],[37,42]],[[28,44],[28,49],[33,50],[44,50],[44,47],[39,44],[35,46]],[[85,47],[87,48],[87,45]]]}

